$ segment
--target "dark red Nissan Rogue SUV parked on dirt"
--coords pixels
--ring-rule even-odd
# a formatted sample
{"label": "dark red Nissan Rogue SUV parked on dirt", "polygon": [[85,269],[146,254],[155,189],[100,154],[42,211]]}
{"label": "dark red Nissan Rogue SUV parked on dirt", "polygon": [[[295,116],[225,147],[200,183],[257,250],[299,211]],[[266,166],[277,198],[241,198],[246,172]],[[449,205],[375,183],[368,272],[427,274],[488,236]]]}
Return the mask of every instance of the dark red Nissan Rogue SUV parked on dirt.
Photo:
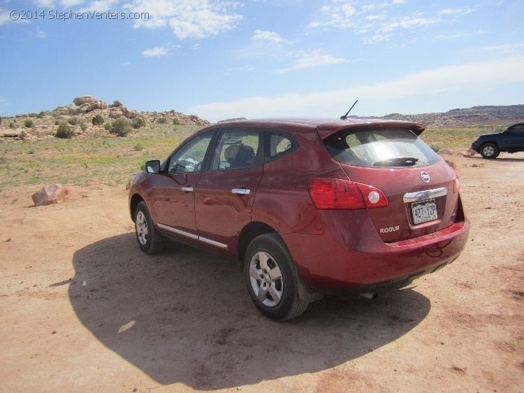
{"label": "dark red Nissan Rogue SUV parked on dirt", "polygon": [[212,125],[129,192],[138,245],[166,238],[235,259],[255,306],[297,317],[323,293],[409,285],[453,262],[470,223],[423,124],[272,119]]}

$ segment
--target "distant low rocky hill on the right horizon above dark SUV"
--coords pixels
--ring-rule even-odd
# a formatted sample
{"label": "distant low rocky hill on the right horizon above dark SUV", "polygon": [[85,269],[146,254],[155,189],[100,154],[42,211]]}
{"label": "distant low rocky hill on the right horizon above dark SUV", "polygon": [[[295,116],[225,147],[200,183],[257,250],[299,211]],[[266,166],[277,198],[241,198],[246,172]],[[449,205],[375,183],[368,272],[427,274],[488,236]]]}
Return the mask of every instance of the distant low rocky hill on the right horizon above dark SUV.
{"label": "distant low rocky hill on the right horizon above dark SUV", "polygon": [[421,122],[431,127],[468,127],[468,126],[507,126],[524,122],[524,104],[507,106],[473,106],[472,108],[451,109],[444,113],[422,113],[419,115],[401,115],[391,113],[382,117],[349,116],[356,119],[387,119]]}

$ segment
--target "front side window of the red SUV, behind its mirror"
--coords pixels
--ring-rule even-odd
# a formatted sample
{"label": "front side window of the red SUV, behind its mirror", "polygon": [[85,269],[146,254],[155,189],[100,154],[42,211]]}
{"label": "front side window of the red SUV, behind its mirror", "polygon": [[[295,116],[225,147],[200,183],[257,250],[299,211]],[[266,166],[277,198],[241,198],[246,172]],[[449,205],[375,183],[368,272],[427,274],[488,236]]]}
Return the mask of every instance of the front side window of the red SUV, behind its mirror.
{"label": "front side window of the red SUV, behind its mirror", "polygon": [[169,173],[191,173],[202,171],[205,152],[213,133],[197,136],[178,150],[169,160]]}

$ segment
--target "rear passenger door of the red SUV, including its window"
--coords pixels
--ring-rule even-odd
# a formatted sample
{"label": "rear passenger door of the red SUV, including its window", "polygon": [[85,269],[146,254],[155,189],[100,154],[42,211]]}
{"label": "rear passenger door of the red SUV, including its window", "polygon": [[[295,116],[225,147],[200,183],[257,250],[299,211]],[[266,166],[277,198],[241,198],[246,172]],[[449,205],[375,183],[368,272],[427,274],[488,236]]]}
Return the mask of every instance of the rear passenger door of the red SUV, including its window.
{"label": "rear passenger door of the red SUV, including its window", "polygon": [[234,253],[240,231],[251,222],[256,188],[262,178],[261,131],[223,129],[195,193],[201,245]]}

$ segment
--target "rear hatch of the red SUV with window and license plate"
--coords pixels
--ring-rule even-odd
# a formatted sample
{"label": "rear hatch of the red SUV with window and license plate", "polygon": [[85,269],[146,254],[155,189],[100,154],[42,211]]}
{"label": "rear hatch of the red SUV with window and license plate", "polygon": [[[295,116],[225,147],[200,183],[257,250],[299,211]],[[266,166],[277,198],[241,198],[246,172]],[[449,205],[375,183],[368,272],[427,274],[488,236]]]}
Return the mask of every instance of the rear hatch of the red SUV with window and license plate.
{"label": "rear hatch of the red SUV with window and license plate", "polygon": [[[386,197],[387,206],[367,207],[384,242],[431,234],[455,222],[456,173],[408,127],[339,129],[323,143],[350,180],[376,187]],[[368,198],[365,192],[363,198]]]}

